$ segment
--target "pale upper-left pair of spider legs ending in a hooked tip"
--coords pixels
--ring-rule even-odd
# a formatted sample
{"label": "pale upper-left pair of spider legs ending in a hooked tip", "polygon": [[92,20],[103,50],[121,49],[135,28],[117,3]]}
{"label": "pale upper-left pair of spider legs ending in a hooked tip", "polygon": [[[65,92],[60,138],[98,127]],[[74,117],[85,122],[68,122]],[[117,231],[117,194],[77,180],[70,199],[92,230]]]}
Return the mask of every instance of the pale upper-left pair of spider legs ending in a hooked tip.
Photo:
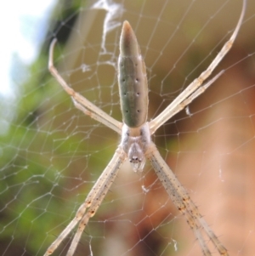
{"label": "pale upper-left pair of spider legs ending in a hooked tip", "polygon": [[48,70],[56,78],[56,80],[59,82],[62,88],[65,89],[65,92],[71,95],[72,99],[75,102],[75,106],[79,110],[82,110],[89,117],[92,117],[99,122],[103,122],[107,127],[115,130],[118,134],[122,134],[122,122],[116,121],[116,119],[112,118],[111,116],[106,114],[104,111],[101,111],[99,107],[97,107],[96,105],[88,101],[81,94],[78,94],[77,92],[75,92],[65,82],[63,77],[59,75],[59,72],[54,67],[54,45],[56,42],[57,42],[57,39],[54,38],[54,40],[52,41],[49,47]]}

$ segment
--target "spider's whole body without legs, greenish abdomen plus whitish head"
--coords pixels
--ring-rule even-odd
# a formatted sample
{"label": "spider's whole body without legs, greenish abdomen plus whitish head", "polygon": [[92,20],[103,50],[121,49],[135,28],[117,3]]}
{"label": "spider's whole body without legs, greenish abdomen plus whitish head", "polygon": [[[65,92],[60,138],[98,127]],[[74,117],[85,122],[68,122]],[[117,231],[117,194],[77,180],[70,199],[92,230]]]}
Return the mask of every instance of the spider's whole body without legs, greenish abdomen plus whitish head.
{"label": "spider's whole body without legs, greenish abdomen plus whitish head", "polygon": [[139,44],[127,21],[122,26],[120,46],[118,84],[123,117],[121,146],[133,170],[137,171],[144,168],[144,155],[150,146],[148,83]]}

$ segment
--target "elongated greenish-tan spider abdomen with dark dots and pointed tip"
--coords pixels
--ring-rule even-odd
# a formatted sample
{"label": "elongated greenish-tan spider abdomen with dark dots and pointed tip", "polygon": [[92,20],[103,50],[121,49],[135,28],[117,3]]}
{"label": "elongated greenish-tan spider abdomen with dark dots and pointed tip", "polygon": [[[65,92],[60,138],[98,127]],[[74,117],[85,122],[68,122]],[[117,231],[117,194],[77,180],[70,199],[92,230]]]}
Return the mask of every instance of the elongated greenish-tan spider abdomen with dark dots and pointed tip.
{"label": "elongated greenish-tan spider abdomen with dark dots and pointed tip", "polygon": [[127,21],[122,26],[118,71],[123,122],[139,128],[147,121],[148,82],[139,44]]}

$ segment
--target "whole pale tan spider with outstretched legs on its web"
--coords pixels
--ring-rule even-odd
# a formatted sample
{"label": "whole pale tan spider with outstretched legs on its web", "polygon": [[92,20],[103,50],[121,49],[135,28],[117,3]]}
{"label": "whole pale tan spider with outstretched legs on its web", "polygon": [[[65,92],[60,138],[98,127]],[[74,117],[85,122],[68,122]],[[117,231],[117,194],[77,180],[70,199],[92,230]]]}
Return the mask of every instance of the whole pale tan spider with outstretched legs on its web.
{"label": "whole pale tan spider with outstretched legs on its web", "polygon": [[104,111],[101,111],[96,105],[89,102],[81,94],[75,92],[59,75],[59,72],[54,67],[53,55],[54,44],[56,39],[49,48],[48,69],[65,89],[67,94],[71,96],[74,105],[77,109],[83,111],[84,114],[94,118],[98,122],[104,123],[107,127],[121,134],[122,139],[118,145],[111,162],[107,165],[103,173],[100,175],[92,190],[88,193],[87,198],[77,210],[76,216],[71,220],[71,223],[65,227],[65,230],[56,238],[56,240],[48,247],[44,256],[54,253],[60,242],[75,228],[78,224],[77,232],[72,239],[71,246],[67,255],[72,256],[77,248],[82,231],[88,225],[90,218],[97,212],[105,195],[110,190],[113,181],[116,178],[118,170],[122,163],[128,159],[133,170],[142,171],[144,168],[145,159],[150,161],[150,164],[155,169],[161,184],[164,186],[167,194],[171,197],[173,203],[178,208],[178,211],[184,214],[188,225],[194,231],[203,255],[212,255],[201,231],[208,236],[212,244],[217,248],[220,255],[229,255],[227,249],[218,240],[212,229],[207,225],[205,219],[202,218],[195,203],[192,202],[188,192],[184,189],[178,179],[173,174],[172,170],[167,166],[167,163],[161,157],[156,145],[151,141],[150,137],[154,134],[157,128],[160,128],[164,122],[184,107],[195,100],[202,94],[224,71],[221,71],[211,80],[203,84],[209,77],[218,63],[223,60],[224,56],[229,52],[235,37],[240,30],[242,20],[246,9],[246,0],[243,0],[240,19],[235,27],[235,31],[229,38],[229,41],[224,43],[223,48],[219,51],[211,65],[203,71],[184,91],[167,106],[155,119],[147,122],[148,112],[148,85],[145,71],[144,60],[140,54],[139,44],[133,32],[132,27],[127,21],[124,21],[122,26],[122,34],[120,38],[120,55],[118,60],[118,84],[121,101],[122,119],[123,122],[118,122],[110,117]]}

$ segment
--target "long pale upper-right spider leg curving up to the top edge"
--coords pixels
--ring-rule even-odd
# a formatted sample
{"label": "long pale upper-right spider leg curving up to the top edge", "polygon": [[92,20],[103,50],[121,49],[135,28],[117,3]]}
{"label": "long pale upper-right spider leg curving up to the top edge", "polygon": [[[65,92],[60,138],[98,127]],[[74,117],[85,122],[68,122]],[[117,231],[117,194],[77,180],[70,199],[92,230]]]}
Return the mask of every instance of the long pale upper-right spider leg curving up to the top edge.
{"label": "long pale upper-right spider leg curving up to the top edge", "polygon": [[218,63],[221,60],[223,60],[224,56],[229,52],[229,49],[232,47],[235,41],[235,38],[238,34],[238,31],[241,28],[241,23],[244,18],[245,11],[246,11],[246,0],[243,0],[241,16],[235,27],[235,31],[233,32],[232,36],[229,38],[229,41],[224,43],[223,48],[221,48],[221,50],[219,51],[215,59],[212,60],[212,63],[207,67],[207,70],[203,71],[199,77],[197,77],[193,82],[191,82],[190,85],[187,88],[185,88],[184,91],[181,94],[179,94],[178,97],[175,100],[173,100],[173,102],[170,105],[168,105],[164,111],[161,112],[161,114],[159,114],[156,118],[154,118],[150,122],[151,134],[154,134],[157,128],[160,128],[164,122],[167,122],[167,120],[170,117],[173,117],[172,116],[173,109],[176,109],[178,105],[181,105],[185,99],[189,98],[190,95],[193,94],[195,90],[199,88],[201,84],[212,74],[212,71],[214,71]]}

